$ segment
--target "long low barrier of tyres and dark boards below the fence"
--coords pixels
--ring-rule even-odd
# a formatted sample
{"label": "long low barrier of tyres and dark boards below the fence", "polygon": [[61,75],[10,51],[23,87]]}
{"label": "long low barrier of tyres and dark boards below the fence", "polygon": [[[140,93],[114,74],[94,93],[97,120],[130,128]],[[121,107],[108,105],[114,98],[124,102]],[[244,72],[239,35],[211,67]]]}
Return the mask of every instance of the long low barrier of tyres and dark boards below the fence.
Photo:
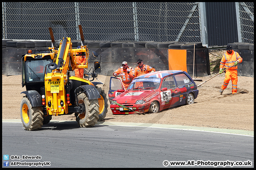
{"label": "long low barrier of tyres and dark boards below the fence", "polygon": [[[3,75],[20,75],[23,54],[27,53],[28,50],[47,49],[47,47],[43,46],[51,45],[50,41],[17,41],[20,43],[10,41],[14,40],[2,40]],[[55,42],[56,46],[59,47],[58,40]],[[73,48],[81,45],[79,40],[73,40],[72,43]],[[193,57],[194,44],[195,57]],[[121,67],[123,61],[127,61],[128,66],[135,68],[138,66],[137,60],[139,58],[144,61],[144,64],[154,67],[157,71],[168,69],[185,70],[192,77],[194,70],[194,77],[210,75],[209,52],[208,48],[202,46],[202,42],[85,41],[84,45],[88,46],[90,52],[87,70],[93,67],[94,61],[100,60],[99,57],[95,58],[91,55],[92,51],[95,51],[99,56],[102,55],[100,73],[102,75],[112,76],[113,72]],[[238,66],[239,75],[254,77],[254,50],[245,50],[245,48],[253,49],[252,45],[240,45],[243,49],[234,49],[236,46],[233,47],[243,58],[243,62]],[[239,48],[238,46],[237,48]],[[194,58],[195,60],[193,60]],[[72,72],[71,75],[73,75]]]}

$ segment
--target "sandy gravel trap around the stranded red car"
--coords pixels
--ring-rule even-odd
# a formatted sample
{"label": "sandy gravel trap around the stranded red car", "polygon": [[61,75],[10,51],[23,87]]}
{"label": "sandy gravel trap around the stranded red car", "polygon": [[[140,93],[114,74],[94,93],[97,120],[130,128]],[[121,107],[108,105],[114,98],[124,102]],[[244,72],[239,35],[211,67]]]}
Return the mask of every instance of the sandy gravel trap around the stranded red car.
{"label": "sandy gravel trap around the stranded red car", "polygon": [[[212,55],[211,55],[212,56]],[[216,56],[212,56],[211,59]],[[216,60],[219,57],[217,57]],[[203,81],[212,78],[216,72],[212,66],[211,75],[207,77],[197,77]],[[238,95],[232,95],[231,82],[220,95],[219,90],[225,78],[224,74],[217,75],[198,87],[199,94],[195,103],[191,105],[179,106],[165,109],[156,114],[130,114],[113,115],[110,108],[103,121],[133,122],[133,123],[156,123],[171,125],[188,125],[222,129],[239,129],[254,131],[254,78],[238,77]],[[110,76],[98,75],[98,79],[105,83],[99,85],[105,90],[109,90]],[[201,84],[202,81],[196,81]],[[21,119],[20,102],[26,91],[21,86],[21,75],[2,75],[2,119]],[[75,120],[74,114],[61,115],[52,120]]]}

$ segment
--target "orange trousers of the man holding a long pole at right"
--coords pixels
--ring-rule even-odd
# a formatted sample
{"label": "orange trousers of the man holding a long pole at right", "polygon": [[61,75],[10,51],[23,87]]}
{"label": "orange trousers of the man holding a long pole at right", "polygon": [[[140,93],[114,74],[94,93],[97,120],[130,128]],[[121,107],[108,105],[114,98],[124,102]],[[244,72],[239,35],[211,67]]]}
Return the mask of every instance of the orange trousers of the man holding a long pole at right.
{"label": "orange trousers of the man holding a long pole at right", "polygon": [[238,81],[237,70],[226,70],[225,79],[222,85],[222,90],[226,89],[230,80],[232,81],[232,94],[234,94],[237,92],[237,81]]}

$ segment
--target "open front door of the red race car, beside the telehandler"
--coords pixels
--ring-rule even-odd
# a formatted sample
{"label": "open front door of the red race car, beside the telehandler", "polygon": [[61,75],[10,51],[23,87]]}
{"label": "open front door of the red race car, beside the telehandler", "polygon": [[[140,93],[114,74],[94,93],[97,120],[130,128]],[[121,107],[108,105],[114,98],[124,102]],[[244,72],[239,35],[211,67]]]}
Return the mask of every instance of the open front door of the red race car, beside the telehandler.
{"label": "open front door of the red race car, beside the telehandler", "polygon": [[110,90],[108,91],[108,98],[113,100],[113,98],[120,95],[121,92],[117,92],[119,89],[125,90],[122,80],[117,77],[110,77]]}

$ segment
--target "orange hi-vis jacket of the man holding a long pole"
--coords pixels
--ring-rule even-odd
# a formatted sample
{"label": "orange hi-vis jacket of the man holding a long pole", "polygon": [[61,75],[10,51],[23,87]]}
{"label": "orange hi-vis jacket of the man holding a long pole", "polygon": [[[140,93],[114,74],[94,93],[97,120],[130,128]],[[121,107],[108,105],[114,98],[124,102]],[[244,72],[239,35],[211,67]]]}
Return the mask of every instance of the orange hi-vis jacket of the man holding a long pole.
{"label": "orange hi-vis jacket of the man holding a long pole", "polygon": [[[242,62],[242,57],[239,55],[238,52],[235,52],[232,50],[232,53],[229,54],[228,51],[225,52],[225,54],[222,57],[222,60],[220,61],[220,68],[229,68],[231,66],[234,66],[234,63],[238,61],[239,63]],[[237,70],[237,65],[234,67],[229,68],[228,70]]]}

